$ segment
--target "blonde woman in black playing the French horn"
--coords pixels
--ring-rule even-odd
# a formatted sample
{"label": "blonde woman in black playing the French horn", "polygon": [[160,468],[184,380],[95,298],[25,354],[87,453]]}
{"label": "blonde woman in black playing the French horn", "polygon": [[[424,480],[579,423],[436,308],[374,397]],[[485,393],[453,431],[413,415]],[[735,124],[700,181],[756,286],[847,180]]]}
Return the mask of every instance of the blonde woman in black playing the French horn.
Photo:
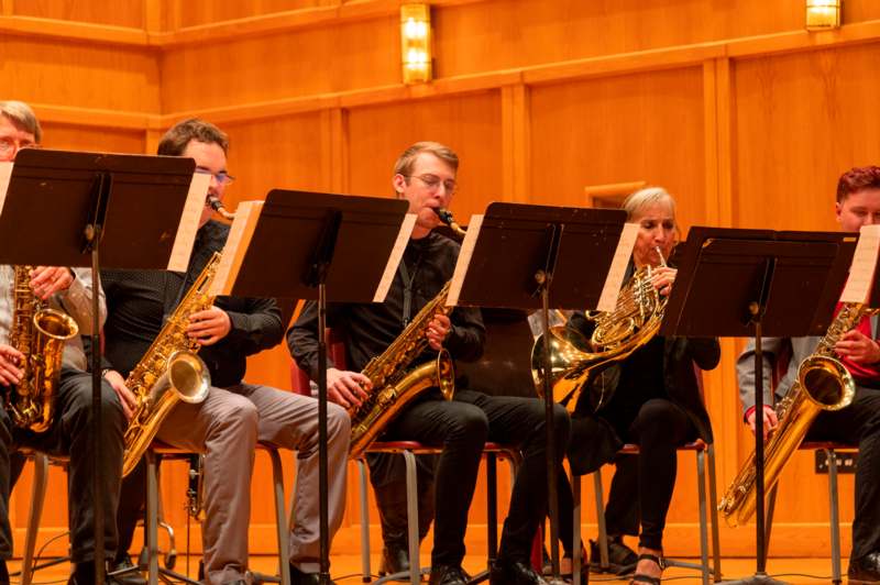
{"label": "blonde woman in black playing the French horn", "polygon": [[[639,224],[629,275],[650,266],[651,285],[666,297],[675,279],[675,269],[666,265],[676,238],[675,201],[653,187],[630,195],[624,209],[627,221]],[[579,311],[568,327],[590,339],[594,322]],[[629,357],[592,376],[578,399],[568,452],[573,473],[591,473],[614,461],[625,443],[639,445],[638,483],[629,483],[641,525],[632,583],[660,583],[663,528],[675,485],[675,450],[697,438],[712,441],[694,363],[712,369],[719,357],[715,339],[654,335]],[[571,534],[562,533],[562,538],[571,539]],[[571,550],[568,544],[566,550]]]}

